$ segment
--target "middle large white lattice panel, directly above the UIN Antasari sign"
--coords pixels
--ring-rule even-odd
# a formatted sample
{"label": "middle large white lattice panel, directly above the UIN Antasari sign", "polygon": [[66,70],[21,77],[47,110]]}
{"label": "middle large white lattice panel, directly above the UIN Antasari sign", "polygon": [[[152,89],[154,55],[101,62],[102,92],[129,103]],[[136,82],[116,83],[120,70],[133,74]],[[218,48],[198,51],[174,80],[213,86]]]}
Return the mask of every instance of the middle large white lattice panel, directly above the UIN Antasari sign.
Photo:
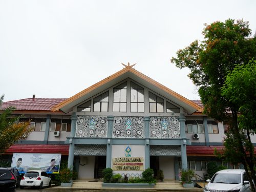
{"label": "middle large white lattice panel, directly above the UIN Antasari sign", "polygon": [[144,138],[143,117],[114,117],[114,138]]}

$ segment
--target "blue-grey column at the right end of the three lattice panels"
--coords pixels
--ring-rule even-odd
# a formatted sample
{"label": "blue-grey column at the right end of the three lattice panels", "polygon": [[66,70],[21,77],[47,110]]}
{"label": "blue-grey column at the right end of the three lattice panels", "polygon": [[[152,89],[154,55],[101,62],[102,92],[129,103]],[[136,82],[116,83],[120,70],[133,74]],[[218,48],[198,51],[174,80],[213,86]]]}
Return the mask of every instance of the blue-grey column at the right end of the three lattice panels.
{"label": "blue-grey column at the right end of the three lattice panels", "polygon": [[181,138],[181,164],[182,169],[187,170],[187,151],[186,151],[186,133],[185,133],[185,116],[181,113],[180,114],[180,138]]}

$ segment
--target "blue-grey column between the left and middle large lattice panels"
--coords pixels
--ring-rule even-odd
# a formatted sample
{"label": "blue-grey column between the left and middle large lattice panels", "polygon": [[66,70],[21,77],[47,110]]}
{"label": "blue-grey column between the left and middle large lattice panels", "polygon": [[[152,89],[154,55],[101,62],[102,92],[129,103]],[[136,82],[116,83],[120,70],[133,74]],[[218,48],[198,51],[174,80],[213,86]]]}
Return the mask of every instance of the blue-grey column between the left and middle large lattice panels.
{"label": "blue-grey column between the left and middle large lattice panels", "polygon": [[112,132],[113,132],[113,120],[112,115],[108,116],[108,135],[106,143],[106,168],[111,168],[111,159],[112,159]]}

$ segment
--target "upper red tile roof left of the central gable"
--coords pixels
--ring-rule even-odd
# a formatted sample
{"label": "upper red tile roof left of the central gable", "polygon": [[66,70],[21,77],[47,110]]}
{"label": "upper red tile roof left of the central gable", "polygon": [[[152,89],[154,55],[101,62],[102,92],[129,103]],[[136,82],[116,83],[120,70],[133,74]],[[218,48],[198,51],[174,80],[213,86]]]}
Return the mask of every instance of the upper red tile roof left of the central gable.
{"label": "upper red tile roof left of the central gable", "polygon": [[51,111],[53,106],[66,99],[54,98],[28,98],[14,101],[3,102],[0,110],[14,106],[17,111]]}

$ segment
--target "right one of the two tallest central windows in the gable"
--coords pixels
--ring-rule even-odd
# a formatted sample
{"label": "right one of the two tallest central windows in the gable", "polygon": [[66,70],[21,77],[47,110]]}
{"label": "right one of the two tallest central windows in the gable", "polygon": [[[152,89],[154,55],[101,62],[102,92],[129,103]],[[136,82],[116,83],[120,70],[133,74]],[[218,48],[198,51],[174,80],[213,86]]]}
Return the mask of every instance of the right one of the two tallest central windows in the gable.
{"label": "right one of the two tallest central windows in the gable", "polygon": [[144,112],[144,89],[131,82],[131,112]]}

